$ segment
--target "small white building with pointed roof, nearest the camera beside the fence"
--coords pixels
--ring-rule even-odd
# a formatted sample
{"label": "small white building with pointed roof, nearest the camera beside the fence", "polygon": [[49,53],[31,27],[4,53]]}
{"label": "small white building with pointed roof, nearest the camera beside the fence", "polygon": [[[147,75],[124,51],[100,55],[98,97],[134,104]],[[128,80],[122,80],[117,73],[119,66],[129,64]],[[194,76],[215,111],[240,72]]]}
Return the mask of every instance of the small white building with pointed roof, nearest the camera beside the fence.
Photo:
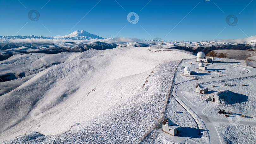
{"label": "small white building with pointed roof, nearest the camera beside the fence", "polygon": [[162,122],[162,130],[164,132],[167,132],[168,134],[174,136],[174,135],[178,135],[180,136],[181,134],[181,126],[173,123],[170,118],[166,118],[163,122]]}

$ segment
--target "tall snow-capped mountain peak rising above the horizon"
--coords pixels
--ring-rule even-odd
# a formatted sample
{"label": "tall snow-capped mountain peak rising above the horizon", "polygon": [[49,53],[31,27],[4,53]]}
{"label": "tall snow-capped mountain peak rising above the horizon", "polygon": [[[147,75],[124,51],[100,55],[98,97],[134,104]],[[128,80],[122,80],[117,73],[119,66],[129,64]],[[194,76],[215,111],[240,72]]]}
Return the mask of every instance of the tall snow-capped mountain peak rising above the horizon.
{"label": "tall snow-capped mountain peak rising above the horizon", "polygon": [[104,39],[100,36],[97,36],[95,34],[91,34],[91,33],[88,33],[84,30],[82,31],[79,31],[79,30],[76,30],[74,31],[73,33],[70,33],[68,35],[65,35],[63,36],[63,38],[65,39],[73,39],[73,40],[81,40],[81,39]]}

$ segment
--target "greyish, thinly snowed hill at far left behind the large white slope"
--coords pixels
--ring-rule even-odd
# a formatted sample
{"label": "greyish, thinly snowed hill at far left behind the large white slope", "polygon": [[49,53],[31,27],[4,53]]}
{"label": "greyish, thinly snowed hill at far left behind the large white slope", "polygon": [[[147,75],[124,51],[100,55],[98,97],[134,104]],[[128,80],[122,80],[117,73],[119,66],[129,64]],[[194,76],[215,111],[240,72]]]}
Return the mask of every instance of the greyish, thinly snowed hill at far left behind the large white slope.
{"label": "greyish, thinly snowed hill at far left behind the large white slope", "polygon": [[[63,52],[56,55],[45,55],[41,53],[27,55],[17,54],[5,61],[0,61],[0,77],[3,81],[10,81],[29,75],[34,75],[43,71],[44,69],[69,61],[69,57],[75,54],[76,53],[71,52]],[[24,65],[24,63],[26,63],[26,65]],[[3,78],[4,75],[9,76]],[[3,89],[1,89],[0,92],[2,92],[2,90]]]}

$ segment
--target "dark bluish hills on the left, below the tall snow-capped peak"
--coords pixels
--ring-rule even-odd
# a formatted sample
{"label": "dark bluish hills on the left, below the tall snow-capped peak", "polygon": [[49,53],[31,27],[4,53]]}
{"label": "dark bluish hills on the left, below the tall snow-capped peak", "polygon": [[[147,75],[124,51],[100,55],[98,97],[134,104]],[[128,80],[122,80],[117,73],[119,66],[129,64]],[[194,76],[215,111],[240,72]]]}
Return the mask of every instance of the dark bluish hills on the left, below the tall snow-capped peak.
{"label": "dark bluish hills on the left, below the tall snow-capped peak", "polygon": [[62,45],[55,45],[53,43],[53,40],[47,40],[46,42],[47,43],[44,43],[44,44],[38,44],[33,42],[0,43],[0,45],[2,44],[2,48],[3,48],[2,50],[0,49],[0,60],[6,60],[7,58],[16,54],[28,54],[28,53],[54,54],[54,53],[61,53],[64,51],[83,52],[89,49],[96,49],[96,50],[112,49],[118,46],[116,44],[108,44],[108,43],[103,43],[99,41],[66,42]]}

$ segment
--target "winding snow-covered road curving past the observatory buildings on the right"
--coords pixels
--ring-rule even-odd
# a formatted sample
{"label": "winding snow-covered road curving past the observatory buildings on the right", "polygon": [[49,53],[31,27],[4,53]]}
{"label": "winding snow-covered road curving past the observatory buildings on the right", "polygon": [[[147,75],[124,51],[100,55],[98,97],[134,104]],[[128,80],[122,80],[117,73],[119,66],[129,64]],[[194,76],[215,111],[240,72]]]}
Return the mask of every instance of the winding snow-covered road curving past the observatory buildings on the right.
{"label": "winding snow-covered road curving past the observatory buildings on the right", "polygon": [[[218,63],[218,65],[228,65],[224,63]],[[210,143],[222,143],[220,140],[220,136],[216,130],[215,125],[217,123],[229,123],[228,119],[222,119],[222,118],[216,118],[216,117],[211,117],[208,115],[205,115],[203,113],[204,109],[212,103],[208,103],[206,105],[198,106],[194,105],[190,102],[190,100],[186,99],[182,93],[182,91],[186,90],[186,87],[189,87],[191,85],[196,85],[197,83],[208,83],[208,82],[214,82],[214,81],[222,81],[222,80],[234,80],[234,79],[240,79],[240,78],[246,78],[246,77],[252,77],[256,75],[256,69],[255,68],[250,68],[250,67],[244,67],[244,66],[237,66],[243,69],[247,69],[248,72],[240,75],[229,75],[225,77],[216,77],[214,79],[212,78],[203,78],[200,77],[201,79],[199,80],[194,80],[194,81],[187,81],[181,84],[178,84],[174,87],[173,89],[173,96],[175,99],[177,99],[185,108],[188,110],[188,112],[191,113],[191,115],[196,119],[197,123],[201,123],[202,121],[204,125],[206,126],[209,135],[210,135]],[[189,110],[189,108],[192,110]],[[188,109],[187,109],[188,108]],[[198,118],[199,117],[199,118]],[[240,124],[244,125],[256,125],[256,122],[249,122],[249,121],[240,121]]]}

